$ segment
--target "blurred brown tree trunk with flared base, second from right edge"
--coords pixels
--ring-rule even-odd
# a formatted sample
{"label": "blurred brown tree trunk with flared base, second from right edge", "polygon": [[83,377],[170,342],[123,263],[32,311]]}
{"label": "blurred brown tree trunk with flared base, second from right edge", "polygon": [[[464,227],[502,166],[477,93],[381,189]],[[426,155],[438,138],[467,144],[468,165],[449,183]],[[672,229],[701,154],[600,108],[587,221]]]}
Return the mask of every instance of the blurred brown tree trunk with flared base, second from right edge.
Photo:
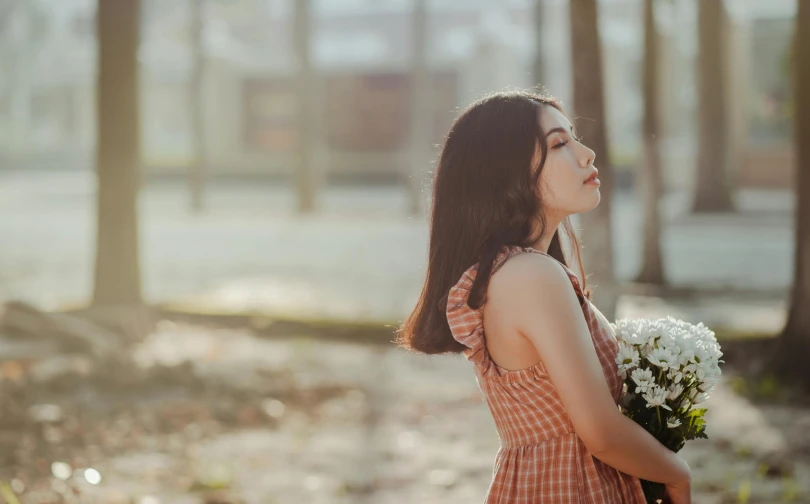
{"label": "blurred brown tree trunk with flared base, second from right edge", "polygon": [[698,2],[698,166],[692,211],[733,212],[725,94],[727,27],[721,0]]}

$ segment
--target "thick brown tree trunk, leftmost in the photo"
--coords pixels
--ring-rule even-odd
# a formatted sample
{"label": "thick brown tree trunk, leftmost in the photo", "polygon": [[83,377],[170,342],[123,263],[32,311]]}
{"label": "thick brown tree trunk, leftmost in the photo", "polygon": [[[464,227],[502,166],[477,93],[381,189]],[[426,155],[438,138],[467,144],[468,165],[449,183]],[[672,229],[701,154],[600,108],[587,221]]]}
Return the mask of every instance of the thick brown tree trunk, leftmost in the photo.
{"label": "thick brown tree trunk, leftmost in the photo", "polygon": [[140,0],[99,0],[96,16],[98,234],[93,305],[140,306]]}

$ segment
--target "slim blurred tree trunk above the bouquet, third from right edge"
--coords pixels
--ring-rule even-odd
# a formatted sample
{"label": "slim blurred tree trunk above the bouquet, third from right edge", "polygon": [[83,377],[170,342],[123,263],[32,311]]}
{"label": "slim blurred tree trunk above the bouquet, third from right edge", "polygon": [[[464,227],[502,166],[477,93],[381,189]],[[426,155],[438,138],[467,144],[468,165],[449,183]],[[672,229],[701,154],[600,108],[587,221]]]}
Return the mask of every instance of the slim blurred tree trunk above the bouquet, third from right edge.
{"label": "slim blurred tree trunk above the bouquet, third from right edge", "polygon": [[660,40],[655,25],[655,0],[644,0],[644,165],[642,167],[642,197],[644,201],[644,250],[641,272],[637,282],[663,285],[664,269],[661,259],[661,216],[659,201],[662,196],[661,153],[659,135],[658,60]]}

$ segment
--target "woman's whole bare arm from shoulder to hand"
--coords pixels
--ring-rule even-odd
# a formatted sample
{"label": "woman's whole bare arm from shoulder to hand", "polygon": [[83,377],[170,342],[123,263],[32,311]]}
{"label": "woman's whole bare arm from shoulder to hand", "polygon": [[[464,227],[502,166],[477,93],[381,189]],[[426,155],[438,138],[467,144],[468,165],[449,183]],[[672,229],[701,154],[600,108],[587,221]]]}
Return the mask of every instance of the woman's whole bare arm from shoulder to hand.
{"label": "woman's whole bare arm from shoulder to hand", "polygon": [[493,275],[487,294],[490,309],[537,349],[574,430],[594,457],[649,481],[689,478],[683,459],[619,411],[559,263],[534,254],[514,257]]}

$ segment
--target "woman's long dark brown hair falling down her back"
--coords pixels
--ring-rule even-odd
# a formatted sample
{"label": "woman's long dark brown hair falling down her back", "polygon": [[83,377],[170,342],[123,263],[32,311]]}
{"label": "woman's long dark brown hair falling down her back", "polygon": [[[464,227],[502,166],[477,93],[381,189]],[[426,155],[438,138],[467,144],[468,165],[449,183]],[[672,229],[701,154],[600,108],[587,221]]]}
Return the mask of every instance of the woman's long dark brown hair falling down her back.
{"label": "woman's long dark brown hair falling down her back", "polygon": [[[398,331],[399,346],[426,354],[463,351],[466,347],[453,338],[447,323],[450,289],[478,264],[468,304],[479,309],[503,247],[530,247],[545,233],[537,190],[548,153],[538,120],[543,106],[565,113],[550,96],[494,93],[470,105],[451,126],[433,180],[427,277],[416,307]],[[538,142],[541,158],[532,166]],[[577,258],[583,292],[590,298],[579,241],[568,218],[562,227]],[[559,230],[548,254],[568,266]]]}

